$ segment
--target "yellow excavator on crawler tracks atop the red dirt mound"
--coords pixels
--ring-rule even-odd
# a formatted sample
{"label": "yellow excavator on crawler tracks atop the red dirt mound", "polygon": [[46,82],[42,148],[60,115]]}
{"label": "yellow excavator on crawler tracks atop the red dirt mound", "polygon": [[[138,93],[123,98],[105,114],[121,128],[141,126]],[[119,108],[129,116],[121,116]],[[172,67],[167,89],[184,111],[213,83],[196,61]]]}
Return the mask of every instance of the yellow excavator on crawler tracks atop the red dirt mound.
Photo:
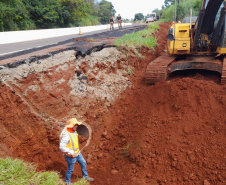
{"label": "yellow excavator on crawler tracks atop the red dirt mound", "polygon": [[[176,12],[176,0],[175,0]],[[146,68],[147,84],[170,78],[186,70],[214,71],[226,84],[226,0],[203,0],[197,20],[174,24],[167,35],[168,55],[160,56]]]}

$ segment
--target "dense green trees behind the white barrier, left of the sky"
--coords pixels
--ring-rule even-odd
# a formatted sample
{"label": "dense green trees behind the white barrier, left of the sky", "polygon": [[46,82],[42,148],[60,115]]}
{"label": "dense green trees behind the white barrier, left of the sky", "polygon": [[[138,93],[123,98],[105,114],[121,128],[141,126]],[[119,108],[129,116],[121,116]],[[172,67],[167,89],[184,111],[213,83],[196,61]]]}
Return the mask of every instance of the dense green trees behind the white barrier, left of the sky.
{"label": "dense green trees behind the white barrier, left of the sky", "polygon": [[0,0],[0,31],[106,24],[115,12],[106,0]]}

